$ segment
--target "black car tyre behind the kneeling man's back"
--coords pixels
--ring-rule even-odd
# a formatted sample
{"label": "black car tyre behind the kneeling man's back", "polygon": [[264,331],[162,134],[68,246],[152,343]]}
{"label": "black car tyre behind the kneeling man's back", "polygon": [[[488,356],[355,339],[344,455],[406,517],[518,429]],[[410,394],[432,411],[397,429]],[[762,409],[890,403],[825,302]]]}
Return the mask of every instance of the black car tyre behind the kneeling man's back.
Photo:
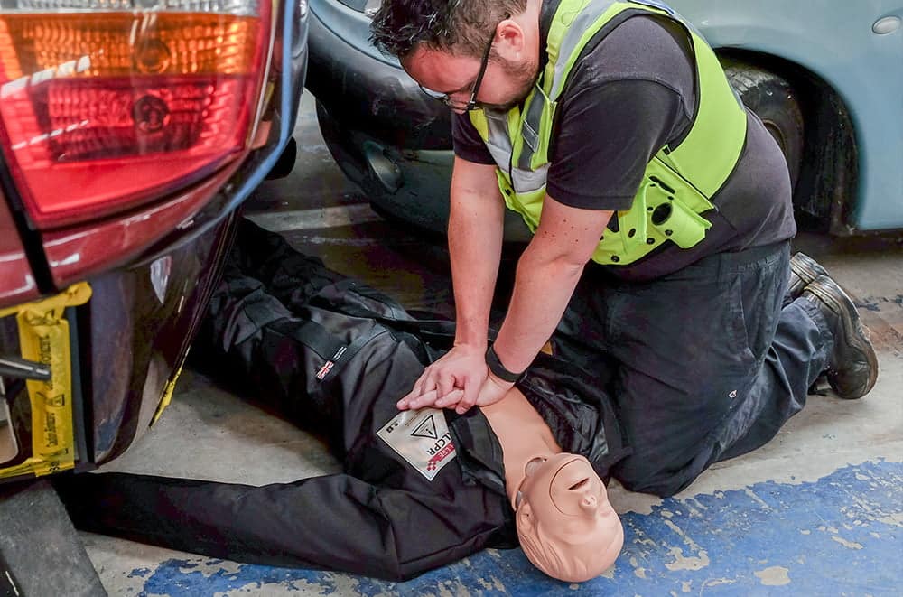
{"label": "black car tyre behind the kneeling man's back", "polygon": [[724,72],[743,104],[756,113],[775,138],[787,160],[792,188],[803,166],[805,128],[796,91],[774,72],[743,62],[728,61]]}

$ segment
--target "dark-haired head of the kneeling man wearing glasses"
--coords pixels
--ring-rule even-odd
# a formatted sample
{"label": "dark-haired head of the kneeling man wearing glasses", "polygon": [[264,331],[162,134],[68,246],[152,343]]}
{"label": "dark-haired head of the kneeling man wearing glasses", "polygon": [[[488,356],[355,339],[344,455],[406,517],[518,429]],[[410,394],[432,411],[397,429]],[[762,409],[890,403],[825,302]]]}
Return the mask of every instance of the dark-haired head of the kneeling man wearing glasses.
{"label": "dark-haired head of the kneeling man wearing glasses", "polygon": [[[539,71],[540,0],[384,0],[370,25],[374,44],[396,56],[430,95],[456,112],[478,87],[478,107],[507,110]],[[487,53],[489,52],[489,53]]]}

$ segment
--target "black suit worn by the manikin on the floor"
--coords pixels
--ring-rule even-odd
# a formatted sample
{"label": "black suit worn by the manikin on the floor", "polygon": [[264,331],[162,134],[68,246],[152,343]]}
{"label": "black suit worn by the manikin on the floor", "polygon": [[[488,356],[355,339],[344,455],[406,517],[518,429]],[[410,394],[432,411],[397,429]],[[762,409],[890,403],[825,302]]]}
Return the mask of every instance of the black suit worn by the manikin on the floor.
{"label": "black suit worn by the manikin on the floor", "polygon": [[[73,521],[239,562],[391,580],[483,547],[517,545],[501,447],[479,409],[444,411],[450,437],[434,438],[445,458],[433,480],[377,436],[449,340],[433,323],[414,321],[390,299],[243,224],[194,350],[264,406],[324,433],[344,472],[265,487],[122,473],[64,477],[58,489]],[[626,448],[599,380],[541,355],[518,387],[562,449],[587,456],[607,478]],[[450,438],[455,450],[440,451]]]}

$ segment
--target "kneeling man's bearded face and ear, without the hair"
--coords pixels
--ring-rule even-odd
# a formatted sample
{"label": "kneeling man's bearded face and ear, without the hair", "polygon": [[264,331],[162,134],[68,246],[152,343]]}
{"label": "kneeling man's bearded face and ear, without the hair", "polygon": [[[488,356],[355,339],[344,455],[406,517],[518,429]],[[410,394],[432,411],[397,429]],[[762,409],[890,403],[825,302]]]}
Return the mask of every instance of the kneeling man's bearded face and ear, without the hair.
{"label": "kneeling man's bearded face and ear, without the hair", "polygon": [[[492,52],[477,93],[479,107],[507,111],[523,101],[536,80],[539,54],[520,25],[510,19],[498,23]],[[489,42],[489,40],[487,40]],[[467,104],[479,76],[481,57],[462,56],[421,46],[402,59],[411,77],[426,89],[448,94],[452,109]]]}

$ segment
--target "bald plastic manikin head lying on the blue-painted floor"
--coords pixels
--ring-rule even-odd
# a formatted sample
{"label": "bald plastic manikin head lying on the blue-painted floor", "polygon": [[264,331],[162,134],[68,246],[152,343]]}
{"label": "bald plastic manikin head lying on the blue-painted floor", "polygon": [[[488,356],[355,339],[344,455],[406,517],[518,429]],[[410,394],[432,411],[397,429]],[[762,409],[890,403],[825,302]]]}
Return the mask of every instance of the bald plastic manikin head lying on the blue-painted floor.
{"label": "bald plastic manikin head lying on the blue-painted floor", "polygon": [[624,529],[590,462],[567,452],[546,454],[527,462],[525,472],[515,517],[527,559],[569,583],[608,570],[624,544]]}

